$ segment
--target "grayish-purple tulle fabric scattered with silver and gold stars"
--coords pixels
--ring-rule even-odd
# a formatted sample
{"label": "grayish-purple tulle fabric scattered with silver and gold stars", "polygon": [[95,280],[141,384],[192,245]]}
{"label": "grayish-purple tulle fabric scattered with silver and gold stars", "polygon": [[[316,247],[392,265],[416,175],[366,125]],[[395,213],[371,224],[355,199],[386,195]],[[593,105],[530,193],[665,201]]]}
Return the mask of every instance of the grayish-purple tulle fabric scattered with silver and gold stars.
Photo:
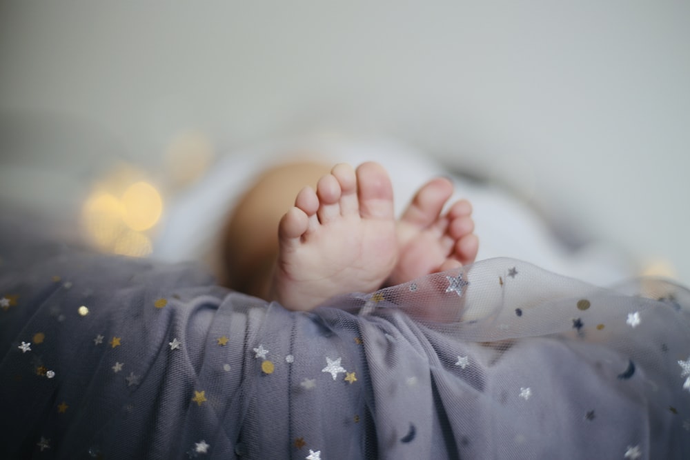
{"label": "grayish-purple tulle fabric scattered with silver and gold stars", "polygon": [[670,283],[492,259],[304,313],[16,228],[0,257],[3,459],[690,458]]}

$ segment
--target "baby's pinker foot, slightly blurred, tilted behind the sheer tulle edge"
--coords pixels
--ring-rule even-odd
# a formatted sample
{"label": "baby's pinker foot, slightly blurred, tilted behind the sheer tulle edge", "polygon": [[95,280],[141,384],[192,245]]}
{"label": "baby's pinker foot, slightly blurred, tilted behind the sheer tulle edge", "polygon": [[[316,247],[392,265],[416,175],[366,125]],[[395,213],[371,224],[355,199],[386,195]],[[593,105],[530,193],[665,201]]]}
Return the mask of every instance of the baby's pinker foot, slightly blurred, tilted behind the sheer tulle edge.
{"label": "baby's pinker foot, slightly blurred, tilted behind the sheer tulle edge", "polygon": [[452,194],[453,184],[443,178],[433,179],[417,192],[397,223],[400,255],[388,284],[451,270],[477,257],[479,239],[473,234],[469,201],[457,201],[441,215]]}

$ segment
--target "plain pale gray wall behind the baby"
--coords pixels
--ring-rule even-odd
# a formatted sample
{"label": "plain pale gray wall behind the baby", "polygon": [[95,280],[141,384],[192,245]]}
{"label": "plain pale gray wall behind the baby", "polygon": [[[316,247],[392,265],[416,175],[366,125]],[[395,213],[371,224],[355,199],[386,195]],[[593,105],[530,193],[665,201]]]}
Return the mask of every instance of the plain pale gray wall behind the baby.
{"label": "plain pale gray wall behind the baby", "polygon": [[689,283],[689,23],[687,1],[2,1],[0,114],[150,168],[185,130],[384,134]]}

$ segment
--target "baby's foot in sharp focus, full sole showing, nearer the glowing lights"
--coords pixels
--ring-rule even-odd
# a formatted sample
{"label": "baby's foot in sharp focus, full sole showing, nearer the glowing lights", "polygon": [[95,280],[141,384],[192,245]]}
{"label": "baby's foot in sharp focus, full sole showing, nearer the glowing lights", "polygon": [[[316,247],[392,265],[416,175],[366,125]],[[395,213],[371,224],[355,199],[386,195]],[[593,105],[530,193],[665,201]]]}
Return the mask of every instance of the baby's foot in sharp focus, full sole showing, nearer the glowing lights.
{"label": "baby's foot in sharp focus, full sole showing, nearer the glowing lights", "polygon": [[338,294],[372,292],[397,261],[393,187],[386,170],[339,164],[304,188],[278,226],[270,299],[311,310]]}

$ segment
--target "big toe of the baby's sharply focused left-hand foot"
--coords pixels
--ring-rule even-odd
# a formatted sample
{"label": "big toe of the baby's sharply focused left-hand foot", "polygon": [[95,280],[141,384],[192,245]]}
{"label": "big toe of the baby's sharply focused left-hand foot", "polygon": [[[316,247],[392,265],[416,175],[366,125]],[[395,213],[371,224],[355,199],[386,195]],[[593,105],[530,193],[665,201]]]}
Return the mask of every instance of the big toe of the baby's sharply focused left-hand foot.
{"label": "big toe of the baby's sharply focused left-hand foot", "polygon": [[393,186],[383,166],[371,161],[357,167],[359,215],[373,219],[393,219]]}

